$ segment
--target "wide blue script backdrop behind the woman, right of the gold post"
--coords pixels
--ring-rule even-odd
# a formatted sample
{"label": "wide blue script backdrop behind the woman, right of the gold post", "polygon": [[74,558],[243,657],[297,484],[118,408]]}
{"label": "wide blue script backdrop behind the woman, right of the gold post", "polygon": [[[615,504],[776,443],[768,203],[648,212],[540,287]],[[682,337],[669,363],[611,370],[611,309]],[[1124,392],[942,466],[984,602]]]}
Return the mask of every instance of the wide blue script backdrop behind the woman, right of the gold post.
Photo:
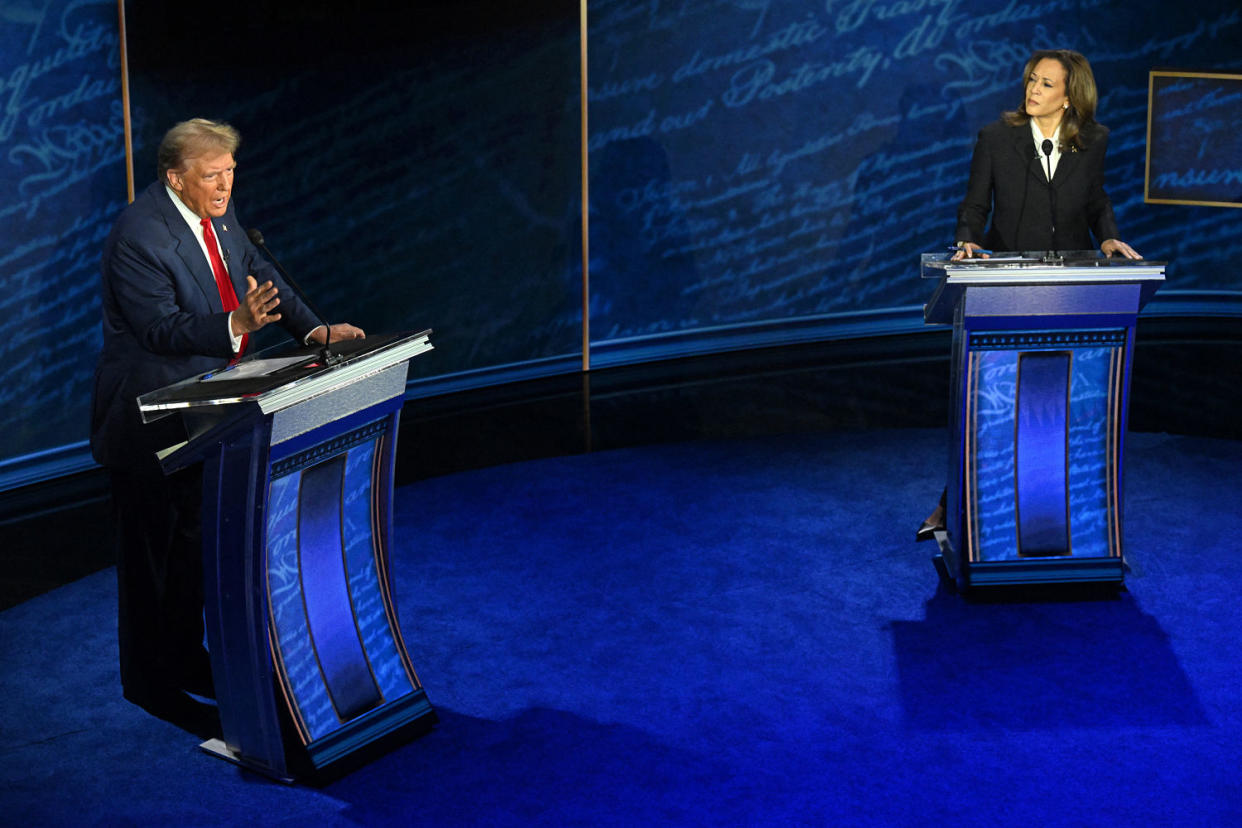
{"label": "wide blue script backdrop behind the woman, right of the gold post", "polygon": [[[1092,61],[1125,238],[1174,262],[1170,288],[1242,286],[1230,264],[1242,216],[1143,204],[1148,72],[1242,66],[1236,2],[1194,15],[1110,0],[591,11],[597,339],[692,340],[718,325],[753,338],[795,319],[830,334],[858,314],[881,330],[918,324],[917,254],[953,241],[975,134],[1021,103],[1037,48]],[[909,313],[882,313],[897,308]]]}

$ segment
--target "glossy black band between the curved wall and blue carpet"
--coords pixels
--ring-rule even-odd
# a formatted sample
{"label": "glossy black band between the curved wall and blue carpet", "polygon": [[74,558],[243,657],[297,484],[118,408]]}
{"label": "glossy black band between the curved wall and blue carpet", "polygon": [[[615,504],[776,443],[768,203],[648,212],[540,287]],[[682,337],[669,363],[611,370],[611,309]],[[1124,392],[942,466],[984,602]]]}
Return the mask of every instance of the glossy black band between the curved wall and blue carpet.
{"label": "glossy black band between the curved wall and blue carpet", "polygon": [[[1238,365],[1242,320],[1140,320],[1130,431],[1242,438]],[[935,428],[948,394],[948,330],[601,369],[409,401],[396,475],[407,484],[696,439]],[[0,610],[114,562],[99,469],[4,493],[0,526]]]}

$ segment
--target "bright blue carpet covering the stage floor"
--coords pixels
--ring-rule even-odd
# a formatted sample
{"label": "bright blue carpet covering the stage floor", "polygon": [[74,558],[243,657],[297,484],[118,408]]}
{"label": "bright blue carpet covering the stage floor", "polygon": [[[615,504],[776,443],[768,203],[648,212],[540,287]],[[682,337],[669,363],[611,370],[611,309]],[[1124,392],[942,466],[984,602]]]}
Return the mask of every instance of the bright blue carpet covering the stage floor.
{"label": "bright blue carpet covering the stage floor", "polygon": [[941,431],[694,442],[407,485],[441,722],[323,790],[120,699],[112,571],[0,614],[0,823],[1242,824],[1242,443],[1131,434],[1126,590],[964,600],[912,542]]}

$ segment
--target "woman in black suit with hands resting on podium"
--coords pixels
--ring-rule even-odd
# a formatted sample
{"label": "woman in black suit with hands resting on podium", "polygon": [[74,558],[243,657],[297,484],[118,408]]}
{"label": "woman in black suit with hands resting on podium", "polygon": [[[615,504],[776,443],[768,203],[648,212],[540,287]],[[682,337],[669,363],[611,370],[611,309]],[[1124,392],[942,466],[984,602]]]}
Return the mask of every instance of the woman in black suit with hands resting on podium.
{"label": "woman in black suit with hands resting on podium", "polygon": [[1022,106],[979,133],[954,258],[986,257],[981,248],[1090,250],[1092,236],[1108,256],[1140,258],[1118,238],[1104,191],[1108,129],[1095,123],[1098,93],[1087,58],[1066,48],[1040,51],[1023,78]]}

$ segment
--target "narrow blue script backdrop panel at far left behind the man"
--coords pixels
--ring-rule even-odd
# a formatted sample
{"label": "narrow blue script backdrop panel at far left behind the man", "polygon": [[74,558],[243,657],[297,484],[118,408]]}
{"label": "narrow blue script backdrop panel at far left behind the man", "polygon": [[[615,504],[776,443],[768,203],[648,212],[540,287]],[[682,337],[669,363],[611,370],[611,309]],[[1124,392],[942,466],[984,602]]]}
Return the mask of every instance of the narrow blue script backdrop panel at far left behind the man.
{"label": "narrow blue script backdrop panel at far left behind the man", "polygon": [[117,45],[109,0],[0,0],[6,488],[55,473],[57,458],[81,464],[84,457],[99,348],[99,248],[125,204]]}

